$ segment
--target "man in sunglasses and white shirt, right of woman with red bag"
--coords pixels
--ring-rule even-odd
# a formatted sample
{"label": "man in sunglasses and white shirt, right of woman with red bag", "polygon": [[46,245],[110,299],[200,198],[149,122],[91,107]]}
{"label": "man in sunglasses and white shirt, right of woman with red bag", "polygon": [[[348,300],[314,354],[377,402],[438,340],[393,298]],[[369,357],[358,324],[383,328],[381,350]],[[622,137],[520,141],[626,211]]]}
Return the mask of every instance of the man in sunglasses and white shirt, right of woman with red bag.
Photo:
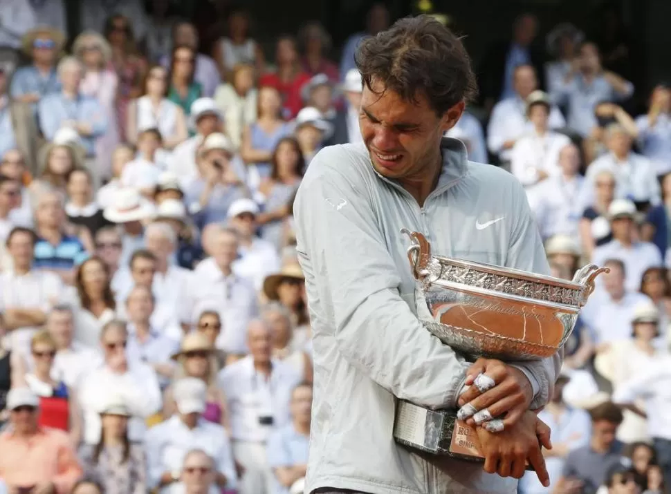
{"label": "man in sunglasses and white shirt, right of woman with red bag", "polygon": [[156,372],[149,365],[129,361],[126,352],[128,339],[128,330],[123,321],[110,321],[102,328],[100,343],[104,363],[82,379],[79,389],[85,444],[95,445],[100,441],[100,403],[113,392],[122,397],[133,416],[128,421],[131,441],[144,439],[147,417],[161,408]]}

